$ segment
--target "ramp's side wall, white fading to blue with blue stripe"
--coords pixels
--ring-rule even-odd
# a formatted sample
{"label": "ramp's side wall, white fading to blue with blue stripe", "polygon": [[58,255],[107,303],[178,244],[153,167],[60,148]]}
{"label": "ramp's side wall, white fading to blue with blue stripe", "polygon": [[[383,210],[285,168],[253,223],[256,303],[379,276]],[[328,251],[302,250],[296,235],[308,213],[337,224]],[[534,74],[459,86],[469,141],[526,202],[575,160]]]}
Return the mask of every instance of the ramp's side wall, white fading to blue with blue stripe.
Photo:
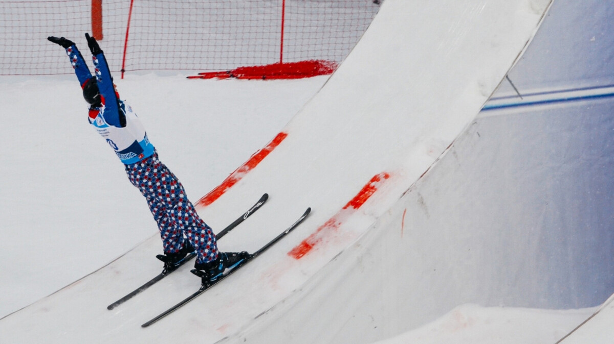
{"label": "ramp's side wall, white fading to blue with blue stripe", "polygon": [[554,1],[445,155],[227,342],[370,343],[405,329],[390,343],[558,343],[576,325],[561,343],[612,342],[610,15],[602,1]]}

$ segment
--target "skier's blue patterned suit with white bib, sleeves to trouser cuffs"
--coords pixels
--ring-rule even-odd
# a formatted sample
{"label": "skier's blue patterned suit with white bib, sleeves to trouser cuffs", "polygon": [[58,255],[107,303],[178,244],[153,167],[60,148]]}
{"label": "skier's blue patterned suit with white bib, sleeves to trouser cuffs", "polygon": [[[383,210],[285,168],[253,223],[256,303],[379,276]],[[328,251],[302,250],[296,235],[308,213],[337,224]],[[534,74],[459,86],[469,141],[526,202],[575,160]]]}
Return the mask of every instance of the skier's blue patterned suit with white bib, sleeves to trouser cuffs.
{"label": "skier's blue patterned suit with white bib, sleeves to trouser cuffs", "polygon": [[[66,48],[79,83],[84,87],[90,70],[76,45]],[[141,191],[158,224],[165,253],[176,253],[187,239],[198,254],[196,263],[218,256],[216,237],[198,217],[184,187],[158,159],[147,133],[130,105],[119,99],[104,53],[93,55],[102,107],[90,108],[88,119],[125,165],[130,182]]]}

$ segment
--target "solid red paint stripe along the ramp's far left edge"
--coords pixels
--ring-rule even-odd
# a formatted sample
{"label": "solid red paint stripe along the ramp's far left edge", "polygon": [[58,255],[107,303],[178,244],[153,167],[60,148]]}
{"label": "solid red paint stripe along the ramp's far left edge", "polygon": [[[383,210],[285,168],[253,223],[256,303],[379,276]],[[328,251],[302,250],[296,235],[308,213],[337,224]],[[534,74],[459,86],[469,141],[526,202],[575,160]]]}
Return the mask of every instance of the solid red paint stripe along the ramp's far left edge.
{"label": "solid red paint stripe along the ramp's far left edge", "polygon": [[228,189],[233,187],[238,181],[240,181],[249,171],[253,170],[255,166],[258,166],[258,163],[262,162],[265,159],[266,155],[273,151],[281,141],[288,136],[287,133],[281,132],[278,133],[277,136],[266,145],[265,148],[260,149],[260,151],[256,152],[254,155],[247,160],[246,163],[237,168],[233,173],[226,178],[222,184],[218,185],[216,189],[211,190],[208,194],[204,195],[203,198],[198,200],[195,204],[196,207],[206,207],[209,204],[216,201],[220,196],[222,196]]}

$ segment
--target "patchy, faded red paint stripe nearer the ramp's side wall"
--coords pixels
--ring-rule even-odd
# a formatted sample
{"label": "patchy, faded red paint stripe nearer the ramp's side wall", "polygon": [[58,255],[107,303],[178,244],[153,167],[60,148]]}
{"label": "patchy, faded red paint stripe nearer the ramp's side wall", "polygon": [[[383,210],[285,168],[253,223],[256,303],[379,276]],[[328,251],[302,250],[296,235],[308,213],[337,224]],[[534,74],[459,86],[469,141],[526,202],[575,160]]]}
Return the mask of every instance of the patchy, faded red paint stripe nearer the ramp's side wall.
{"label": "patchy, faded red paint stripe nearer the ramp's side wall", "polygon": [[339,211],[335,216],[330,218],[323,225],[319,226],[317,230],[308,236],[305,240],[303,240],[300,244],[294,247],[290,252],[288,252],[289,256],[292,256],[295,259],[300,259],[305,256],[307,253],[313,249],[313,247],[324,240],[324,237],[327,233],[331,231],[336,231],[337,228],[346,220],[348,217],[359,209],[365,202],[378,190],[379,185],[386,179],[390,178],[389,173],[380,173],[373,176],[371,180],[365,184],[365,186],[357,193],[351,201],[346,204],[341,211]]}

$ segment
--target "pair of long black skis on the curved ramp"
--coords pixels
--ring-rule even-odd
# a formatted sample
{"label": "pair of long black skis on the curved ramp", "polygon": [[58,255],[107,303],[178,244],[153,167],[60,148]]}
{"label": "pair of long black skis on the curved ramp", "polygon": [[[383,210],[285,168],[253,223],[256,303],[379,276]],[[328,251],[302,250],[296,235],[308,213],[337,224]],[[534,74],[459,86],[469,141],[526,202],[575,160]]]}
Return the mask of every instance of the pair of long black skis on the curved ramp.
{"label": "pair of long black skis on the curved ramp", "polygon": [[[262,197],[260,197],[260,200],[258,200],[256,202],[256,204],[254,204],[254,206],[252,206],[252,208],[250,208],[243,215],[241,215],[238,219],[236,219],[235,221],[230,223],[230,225],[228,225],[226,228],[224,228],[222,231],[220,231],[220,233],[218,233],[216,235],[216,240],[221,239],[228,232],[233,230],[233,228],[235,228],[241,222],[246,220],[247,217],[249,217],[250,215],[254,214],[254,212],[256,212],[258,209],[260,209],[260,207],[262,207],[263,204],[266,203],[266,200],[268,200],[268,194],[267,193],[262,195]],[[303,220],[305,220],[305,218],[309,215],[309,212],[311,212],[311,208],[307,208],[307,210],[305,212],[303,212],[303,214],[298,218],[298,220],[296,222],[294,222],[292,225],[290,225],[286,230],[282,231],[282,233],[280,233],[278,236],[274,237],[271,241],[267,242],[265,245],[263,245],[256,252],[252,253],[248,258],[246,258],[246,260],[244,260],[241,263],[239,263],[238,266],[235,266],[233,269],[227,269],[227,271],[225,271],[224,274],[221,277],[219,277],[218,279],[216,279],[213,282],[203,282],[203,284],[201,285],[200,289],[198,289],[198,291],[196,291],[192,295],[186,297],[184,300],[182,300],[178,304],[174,305],[173,307],[169,308],[168,310],[166,310],[165,312],[161,313],[160,315],[156,316],[152,320],[147,321],[147,323],[142,324],[141,326],[142,327],[147,327],[150,324],[153,324],[156,321],[160,320],[161,318],[164,318],[165,316],[169,315],[170,313],[173,313],[178,308],[181,308],[183,305],[187,304],[188,302],[192,301],[193,299],[195,299],[200,294],[204,293],[204,291],[208,290],[212,286],[214,286],[217,283],[219,283],[221,280],[223,280],[226,277],[228,277],[228,275],[233,274],[233,272],[237,271],[241,267],[245,266],[245,264],[247,264],[250,261],[254,260],[254,258],[256,258],[258,255],[260,255],[263,252],[265,252],[267,249],[269,249],[271,246],[273,246],[276,242],[281,240],[282,237],[286,236],[288,233],[290,233],[290,231],[292,231],[294,228],[296,228],[298,225],[300,225],[300,223],[303,222]],[[113,302],[112,304],[110,304],[109,306],[107,306],[107,309],[112,310],[115,307],[119,306],[120,304],[123,304],[124,302],[128,301],[132,297],[136,296],[137,294],[142,293],[142,291],[147,290],[147,288],[149,288],[150,286],[154,285],[155,283],[157,283],[158,281],[160,281],[161,279],[163,279],[167,275],[171,274],[171,272],[175,271],[177,268],[179,268],[183,264],[187,263],[187,261],[191,260],[194,257],[195,257],[195,253],[190,253],[189,255],[185,256],[184,260],[182,260],[181,263],[177,264],[177,266],[175,266],[173,269],[169,269],[169,270],[165,269],[165,270],[163,270],[160,274],[158,274],[157,276],[153,277],[153,279],[149,280],[144,285],[139,286],[139,288],[136,288],[134,291],[131,291],[130,293],[126,294],[126,296],[122,297],[121,299],[119,299],[119,300]]]}

